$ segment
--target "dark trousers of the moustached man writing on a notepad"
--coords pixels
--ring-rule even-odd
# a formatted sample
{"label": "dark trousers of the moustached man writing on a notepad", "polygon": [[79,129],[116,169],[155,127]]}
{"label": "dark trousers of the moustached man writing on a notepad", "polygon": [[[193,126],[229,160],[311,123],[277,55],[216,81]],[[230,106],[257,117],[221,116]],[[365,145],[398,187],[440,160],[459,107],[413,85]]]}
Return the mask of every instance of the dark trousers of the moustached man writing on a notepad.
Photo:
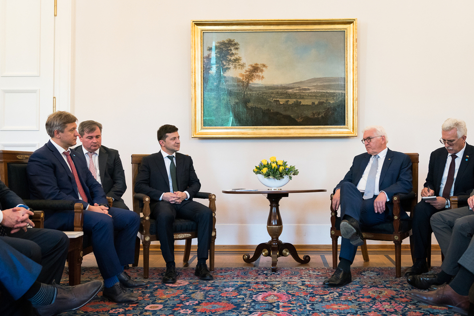
{"label": "dark trousers of the moustached man writing on a notepad", "polygon": [[426,249],[431,245],[430,218],[439,212],[434,206],[421,200],[415,205],[412,226],[413,256],[416,259],[426,259]]}

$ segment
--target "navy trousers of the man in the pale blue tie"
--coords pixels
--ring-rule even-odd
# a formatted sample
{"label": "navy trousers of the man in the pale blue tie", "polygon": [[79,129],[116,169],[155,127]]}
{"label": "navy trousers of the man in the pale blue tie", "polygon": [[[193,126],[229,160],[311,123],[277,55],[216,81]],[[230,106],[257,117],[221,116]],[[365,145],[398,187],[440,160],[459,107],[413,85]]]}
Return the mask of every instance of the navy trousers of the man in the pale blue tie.
{"label": "navy trousers of the man in the pale blue tie", "polygon": [[[372,226],[388,220],[387,208],[382,214],[375,213],[373,203],[376,196],[374,196],[372,199],[363,200],[361,192],[353,183],[342,183],[340,196],[341,219],[344,218],[344,215],[351,216],[357,220],[357,222],[359,222],[361,228]],[[341,253],[339,254],[339,259],[347,259],[352,263],[354,261],[356,252],[357,246],[352,245],[349,239],[342,237]]]}

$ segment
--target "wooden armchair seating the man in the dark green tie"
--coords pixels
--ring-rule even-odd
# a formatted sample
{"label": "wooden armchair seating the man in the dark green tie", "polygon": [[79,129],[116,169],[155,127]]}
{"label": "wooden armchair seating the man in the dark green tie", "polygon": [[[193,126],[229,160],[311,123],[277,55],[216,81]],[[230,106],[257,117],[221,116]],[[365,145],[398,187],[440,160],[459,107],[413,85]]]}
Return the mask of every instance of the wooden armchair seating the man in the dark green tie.
{"label": "wooden armchair seating the man in the dark green tie", "polygon": [[[156,221],[150,216],[150,197],[145,194],[135,193],[135,179],[140,169],[141,160],[143,157],[148,156],[147,154],[133,154],[132,155],[132,192],[133,192],[133,211],[138,213],[140,219],[140,229],[138,231],[140,237],[137,237],[137,243],[135,247],[135,263],[133,266],[138,266],[138,260],[140,257],[140,240],[143,244],[143,278],[148,279],[148,269],[150,264],[150,243],[157,241],[157,227]],[[214,252],[215,252],[215,194],[207,192],[198,192],[194,197],[196,199],[208,199],[209,208],[212,211],[212,236],[211,245],[209,248],[209,267],[210,270],[214,270]],[[173,223],[173,231],[175,240],[186,240],[184,248],[183,262],[188,263],[189,255],[191,253],[191,240],[197,238],[197,227],[196,223],[192,220],[176,218]]]}

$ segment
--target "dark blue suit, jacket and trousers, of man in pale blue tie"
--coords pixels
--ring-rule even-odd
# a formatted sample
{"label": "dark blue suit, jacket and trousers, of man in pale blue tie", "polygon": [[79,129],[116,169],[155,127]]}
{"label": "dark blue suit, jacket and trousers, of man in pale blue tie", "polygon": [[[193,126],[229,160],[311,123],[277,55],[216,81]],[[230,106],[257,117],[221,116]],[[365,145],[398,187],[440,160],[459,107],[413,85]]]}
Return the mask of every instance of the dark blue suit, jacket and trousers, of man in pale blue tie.
{"label": "dark blue suit, jacket and trousers, of man in pale blue tie", "polygon": [[[351,169],[334,188],[334,192],[341,189],[341,218],[344,215],[351,216],[360,223],[361,228],[391,219],[393,203],[390,201],[393,196],[397,193],[410,193],[413,189],[410,157],[402,152],[388,149],[380,173],[379,191],[386,193],[389,202],[386,203],[385,213],[375,213],[373,203],[376,196],[372,199],[362,200],[362,194],[356,187],[369,164],[370,157],[371,155],[368,153],[355,156]],[[406,213],[403,212],[401,217],[406,218]],[[357,246],[353,246],[349,239],[342,238],[339,258],[352,262],[356,251]]]}

